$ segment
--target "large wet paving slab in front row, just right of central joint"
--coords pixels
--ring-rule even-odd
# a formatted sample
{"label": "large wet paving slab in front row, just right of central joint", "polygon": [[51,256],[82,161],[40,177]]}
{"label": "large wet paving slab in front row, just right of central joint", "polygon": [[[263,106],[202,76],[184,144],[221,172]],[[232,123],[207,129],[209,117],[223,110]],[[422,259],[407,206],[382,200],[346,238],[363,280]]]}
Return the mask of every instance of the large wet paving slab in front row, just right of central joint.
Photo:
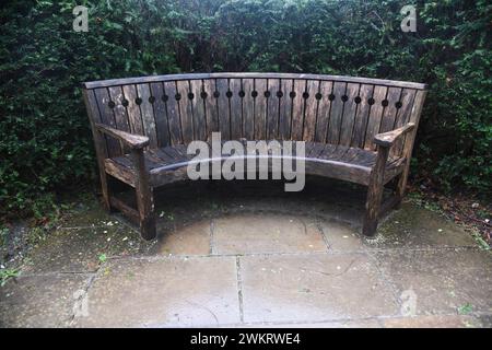
{"label": "large wet paving slab in front row, just right of central joint", "polygon": [[364,254],[242,257],[245,322],[396,315],[396,298]]}

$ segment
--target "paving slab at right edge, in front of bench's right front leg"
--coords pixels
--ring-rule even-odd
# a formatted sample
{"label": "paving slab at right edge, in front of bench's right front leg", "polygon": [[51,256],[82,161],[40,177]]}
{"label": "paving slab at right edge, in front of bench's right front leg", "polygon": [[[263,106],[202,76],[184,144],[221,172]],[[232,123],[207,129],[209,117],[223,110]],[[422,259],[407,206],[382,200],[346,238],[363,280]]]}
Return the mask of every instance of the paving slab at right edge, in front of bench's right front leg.
{"label": "paving slab at right edge, in front of bench's right front leg", "polygon": [[[379,252],[379,269],[398,295],[414,293],[417,314],[492,313],[492,255],[478,249]],[[406,296],[408,298],[408,296]]]}

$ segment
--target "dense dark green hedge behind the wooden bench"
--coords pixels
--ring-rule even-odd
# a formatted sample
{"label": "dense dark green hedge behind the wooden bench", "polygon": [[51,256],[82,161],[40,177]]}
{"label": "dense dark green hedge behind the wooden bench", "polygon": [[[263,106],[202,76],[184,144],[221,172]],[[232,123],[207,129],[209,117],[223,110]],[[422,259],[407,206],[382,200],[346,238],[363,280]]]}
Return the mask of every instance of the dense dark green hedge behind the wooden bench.
{"label": "dense dark green hedge behind the wooden bench", "polygon": [[[206,71],[365,75],[430,84],[412,173],[490,192],[492,4],[418,2],[417,33],[379,0],[7,1],[0,10],[0,214],[94,180],[82,81]],[[89,7],[89,32],[72,9]],[[48,198],[49,201],[49,198]]]}

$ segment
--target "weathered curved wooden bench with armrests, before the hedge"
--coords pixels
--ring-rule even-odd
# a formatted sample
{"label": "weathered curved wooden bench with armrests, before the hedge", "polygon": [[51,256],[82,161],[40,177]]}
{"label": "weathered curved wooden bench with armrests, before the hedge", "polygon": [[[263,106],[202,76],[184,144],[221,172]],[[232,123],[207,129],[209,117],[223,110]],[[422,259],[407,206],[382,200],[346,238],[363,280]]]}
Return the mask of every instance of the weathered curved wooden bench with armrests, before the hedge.
{"label": "weathered curved wooden bench with armrests, before the hedge", "polygon": [[[305,141],[307,174],[366,185],[363,233],[405,194],[424,84],[291,73],[203,73],[86,82],[104,202],[155,237],[152,190],[186,178],[187,144]],[[134,187],[137,209],[112,196],[108,176]],[[382,203],[384,186],[394,195]]]}

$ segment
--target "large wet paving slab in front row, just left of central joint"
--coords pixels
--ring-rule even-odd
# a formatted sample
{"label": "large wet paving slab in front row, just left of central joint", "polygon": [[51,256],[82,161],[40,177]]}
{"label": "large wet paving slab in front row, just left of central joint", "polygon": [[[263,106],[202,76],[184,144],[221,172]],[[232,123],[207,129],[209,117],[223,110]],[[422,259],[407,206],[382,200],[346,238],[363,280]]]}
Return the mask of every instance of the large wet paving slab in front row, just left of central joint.
{"label": "large wet paving slab in front row, just left of central joint", "polygon": [[236,258],[113,260],[89,290],[78,327],[169,327],[239,319]]}

